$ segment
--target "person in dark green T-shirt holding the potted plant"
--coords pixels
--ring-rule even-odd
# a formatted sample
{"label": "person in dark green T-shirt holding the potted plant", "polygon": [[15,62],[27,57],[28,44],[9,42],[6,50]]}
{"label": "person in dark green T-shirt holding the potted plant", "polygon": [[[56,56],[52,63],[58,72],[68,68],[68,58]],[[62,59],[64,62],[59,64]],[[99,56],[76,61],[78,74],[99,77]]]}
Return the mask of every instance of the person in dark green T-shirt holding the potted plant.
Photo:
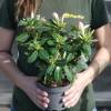
{"label": "person in dark green T-shirt holding the potted plant", "polygon": [[48,108],[48,93],[36,84],[38,71],[20,53],[16,63],[11,47],[20,19],[36,13],[50,19],[53,12],[82,14],[85,23],[94,30],[98,51],[89,68],[78,73],[62,101],[67,108],[64,111],[93,111],[95,107],[91,82],[109,63],[111,54],[110,24],[103,0],[0,0],[0,69],[16,85],[11,111],[42,111],[39,107]]}

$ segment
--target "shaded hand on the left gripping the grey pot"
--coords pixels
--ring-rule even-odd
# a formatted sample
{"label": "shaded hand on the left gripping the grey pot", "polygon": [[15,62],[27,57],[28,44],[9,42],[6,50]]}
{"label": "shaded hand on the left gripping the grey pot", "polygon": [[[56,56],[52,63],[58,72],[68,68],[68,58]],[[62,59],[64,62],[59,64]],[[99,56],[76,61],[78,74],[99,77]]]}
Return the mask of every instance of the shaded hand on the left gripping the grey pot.
{"label": "shaded hand on the left gripping the grey pot", "polygon": [[48,93],[37,87],[36,77],[23,75],[22,80],[19,81],[19,88],[26,92],[26,94],[36,105],[42,109],[48,108],[48,103],[50,102],[48,99]]}

